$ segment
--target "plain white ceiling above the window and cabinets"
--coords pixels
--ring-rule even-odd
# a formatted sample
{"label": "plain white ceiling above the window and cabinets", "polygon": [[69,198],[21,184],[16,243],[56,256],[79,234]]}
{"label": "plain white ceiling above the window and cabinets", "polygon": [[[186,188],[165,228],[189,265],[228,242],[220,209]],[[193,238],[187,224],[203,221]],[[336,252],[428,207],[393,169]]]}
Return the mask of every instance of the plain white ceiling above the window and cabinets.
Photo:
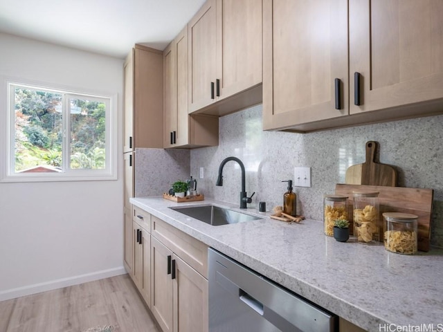
{"label": "plain white ceiling above the window and cabinets", "polygon": [[163,50],[205,0],[0,0],[0,33],[124,58]]}

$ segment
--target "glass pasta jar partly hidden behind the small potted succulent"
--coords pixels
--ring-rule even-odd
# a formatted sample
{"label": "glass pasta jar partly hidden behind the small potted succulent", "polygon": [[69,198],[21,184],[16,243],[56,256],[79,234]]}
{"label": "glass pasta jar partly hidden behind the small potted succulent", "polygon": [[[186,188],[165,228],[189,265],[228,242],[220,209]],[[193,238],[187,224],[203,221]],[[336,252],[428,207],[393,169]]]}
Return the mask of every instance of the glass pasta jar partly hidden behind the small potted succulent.
{"label": "glass pasta jar partly hidden behind the small potted succulent", "polygon": [[325,195],[323,196],[323,223],[325,235],[334,237],[334,222],[337,219],[348,217],[347,196]]}

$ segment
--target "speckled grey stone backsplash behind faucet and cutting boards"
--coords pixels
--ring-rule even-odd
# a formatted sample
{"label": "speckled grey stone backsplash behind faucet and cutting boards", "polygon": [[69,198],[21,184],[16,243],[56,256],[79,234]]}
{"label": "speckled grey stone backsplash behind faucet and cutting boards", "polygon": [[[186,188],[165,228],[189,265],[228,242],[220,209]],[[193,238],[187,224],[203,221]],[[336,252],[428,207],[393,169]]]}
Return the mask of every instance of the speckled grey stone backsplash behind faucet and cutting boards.
{"label": "speckled grey stone backsplash behind faucet and cutting boards", "polygon": [[[263,131],[262,105],[258,105],[219,119],[219,146],[190,151],[190,174],[197,178],[199,192],[239,203],[241,180],[237,163],[225,165],[224,185],[215,186],[221,161],[235,156],[246,168],[248,196],[255,192],[250,208],[265,201],[271,209],[282,205],[287,183],[281,181],[294,178],[294,167],[311,167],[311,187],[294,187],[297,210],[309,219],[321,220],[323,194],[333,193],[336,183],[344,183],[347,167],[363,163],[365,143],[376,140],[379,162],[397,168],[399,186],[434,190],[431,243],[443,247],[442,129],[443,116],[433,116],[305,134]],[[184,154],[182,157],[186,158]],[[168,154],[168,158],[172,157]],[[199,178],[200,167],[204,167],[203,179]],[[161,170],[152,169],[152,174],[158,178],[167,176],[165,168],[161,174]]]}

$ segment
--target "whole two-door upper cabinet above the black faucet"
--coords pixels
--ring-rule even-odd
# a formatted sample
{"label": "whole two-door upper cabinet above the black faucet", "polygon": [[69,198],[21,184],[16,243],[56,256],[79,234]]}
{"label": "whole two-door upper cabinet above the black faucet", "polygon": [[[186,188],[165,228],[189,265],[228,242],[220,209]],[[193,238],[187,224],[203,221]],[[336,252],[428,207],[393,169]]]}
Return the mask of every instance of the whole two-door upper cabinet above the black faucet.
{"label": "whole two-door upper cabinet above the black faucet", "polygon": [[[241,32],[241,33],[240,33]],[[189,113],[262,101],[262,1],[208,0],[188,24]]]}

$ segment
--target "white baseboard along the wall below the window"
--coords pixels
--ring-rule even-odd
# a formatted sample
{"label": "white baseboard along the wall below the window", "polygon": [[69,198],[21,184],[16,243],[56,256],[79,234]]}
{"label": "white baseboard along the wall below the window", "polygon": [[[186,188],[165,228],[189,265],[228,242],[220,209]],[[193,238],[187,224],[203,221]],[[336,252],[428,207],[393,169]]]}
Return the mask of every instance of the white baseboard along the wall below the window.
{"label": "white baseboard along the wall below the window", "polygon": [[74,277],[52,280],[51,282],[42,282],[40,284],[12,288],[0,292],[0,301],[5,301],[6,299],[15,299],[16,297],[42,293],[46,291],[52,291],[53,289],[83,284],[84,282],[93,282],[99,279],[115,277],[116,275],[124,275],[125,273],[127,273],[125,268],[123,266],[119,266],[118,268],[110,268],[109,270],[87,273],[86,275],[76,275]]}

